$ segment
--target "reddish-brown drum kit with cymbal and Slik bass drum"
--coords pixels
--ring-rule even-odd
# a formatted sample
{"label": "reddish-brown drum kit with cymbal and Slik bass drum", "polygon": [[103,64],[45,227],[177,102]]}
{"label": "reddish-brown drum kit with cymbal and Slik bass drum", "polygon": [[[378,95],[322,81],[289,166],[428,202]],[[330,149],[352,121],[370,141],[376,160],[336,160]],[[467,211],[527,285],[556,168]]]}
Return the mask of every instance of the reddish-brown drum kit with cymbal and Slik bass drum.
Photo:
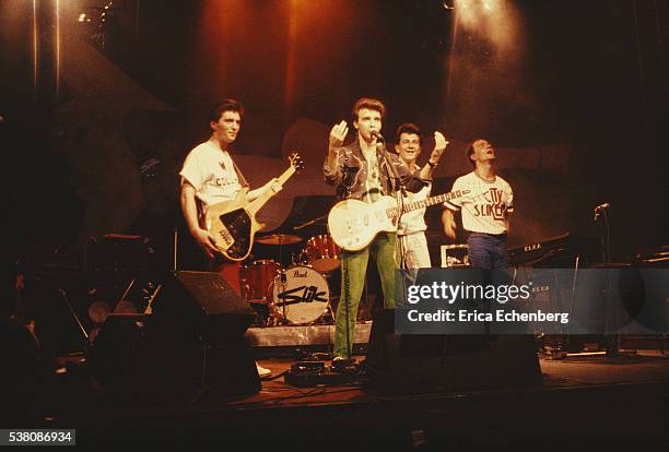
{"label": "reddish-brown drum kit with cymbal and Slik bass drum", "polygon": [[[259,237],[256,242],[281,247],[303,239],[289,234]],[[341,250],[329,235],[309,238],[293,253],[291,264],[283,266],[273,259],[255,260],[242,266],[242,295],[256,309],[257,324],[305,325],[332,316],[330,278],[339,269]],[[332,316],[333,317],[333,316]]]}

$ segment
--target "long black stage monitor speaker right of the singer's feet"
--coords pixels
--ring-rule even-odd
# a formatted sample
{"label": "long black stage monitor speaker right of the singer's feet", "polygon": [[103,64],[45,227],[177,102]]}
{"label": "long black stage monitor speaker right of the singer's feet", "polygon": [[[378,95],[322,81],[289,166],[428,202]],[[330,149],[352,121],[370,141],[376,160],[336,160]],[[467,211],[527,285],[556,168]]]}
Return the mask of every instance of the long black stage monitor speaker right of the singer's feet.
{"label": "long black stage monitor speaker right of the singer's feet", "polygon": [[368,388],[390,394],[541,385],[531,335],[401,335],[392,309],[375,312],[366,365]]}

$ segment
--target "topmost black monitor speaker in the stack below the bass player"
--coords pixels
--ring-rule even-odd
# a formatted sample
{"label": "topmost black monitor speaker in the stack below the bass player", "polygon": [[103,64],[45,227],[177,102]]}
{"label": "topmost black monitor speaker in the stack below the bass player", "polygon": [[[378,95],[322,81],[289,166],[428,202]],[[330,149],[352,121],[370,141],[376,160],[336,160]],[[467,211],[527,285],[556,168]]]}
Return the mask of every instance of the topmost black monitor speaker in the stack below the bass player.
{"label": "topmost black monitor speaker in the stack below the bass player", "polygon": [[212,346],[235,345],[255,313],[219,273],[173,273],[153,306],[156,321],[171,329],[195,330]]}

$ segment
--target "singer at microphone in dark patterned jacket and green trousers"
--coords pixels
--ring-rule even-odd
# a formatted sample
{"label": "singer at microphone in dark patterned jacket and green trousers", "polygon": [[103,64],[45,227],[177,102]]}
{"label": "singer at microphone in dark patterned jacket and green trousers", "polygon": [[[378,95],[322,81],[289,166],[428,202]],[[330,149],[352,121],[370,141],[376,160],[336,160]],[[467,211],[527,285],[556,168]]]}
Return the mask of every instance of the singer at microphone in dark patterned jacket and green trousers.
{"label": "singer at microphone in dark patterned jacket and green trousers", "polygon": [[[385,152],[380,135],[386,114],[384,104],[374,98],[360,98],[352,108],[355,141],[342,146],[349,132],[347,121],[332,127],[328,155],[322,171],[328,183],[337,187],[340,199],[374,202],[382,195],[392,195],[400,186],[411,192],[420,191],[425,180],[432,179],[432,166],[425,165],[411,174],[397,155]],[[442,150],[443,152],[443,150]],[[438,160],[441,154],[436,156]],[[392,165],[395,170],[389,167]],[[400,180],[395,179],[397,174]],[[395,307],[396,234],[380,233],[365,249],[344,251],[341,258],[341,298],[337,307],[333,361],[353,356],[355,318],[365,283],[369,255],[376,260],[384,304]],[[348,325],[347,325],[348,323]]]}

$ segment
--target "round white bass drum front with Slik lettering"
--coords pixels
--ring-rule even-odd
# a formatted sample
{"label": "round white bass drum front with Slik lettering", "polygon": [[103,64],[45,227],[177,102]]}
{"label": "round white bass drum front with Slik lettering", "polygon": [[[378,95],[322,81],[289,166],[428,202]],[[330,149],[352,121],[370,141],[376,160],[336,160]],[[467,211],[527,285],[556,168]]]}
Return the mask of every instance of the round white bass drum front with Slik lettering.
{"label": "round white bass drum front with Slik lettering", "polygon": [[330,289],[320,273],[308,266],[291,266],[272,283],[277,316],[293,324],[310,323],[328,310]]}

